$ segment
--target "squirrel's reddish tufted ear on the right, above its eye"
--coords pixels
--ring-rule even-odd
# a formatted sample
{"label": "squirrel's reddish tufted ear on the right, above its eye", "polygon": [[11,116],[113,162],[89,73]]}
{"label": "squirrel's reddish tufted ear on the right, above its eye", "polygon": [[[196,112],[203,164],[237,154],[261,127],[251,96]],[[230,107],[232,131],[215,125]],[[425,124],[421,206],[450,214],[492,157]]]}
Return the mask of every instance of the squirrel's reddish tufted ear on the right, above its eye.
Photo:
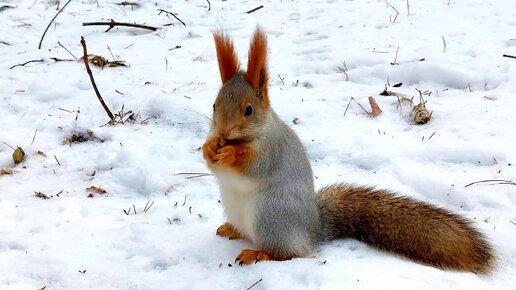
{"label": "squirrel's reddish tufted ear on the right, above its eye", "polygon": [[260,27],[256,28],[251,40],[246,79],[257,92],[257,97],[268,105],[267,35]]}

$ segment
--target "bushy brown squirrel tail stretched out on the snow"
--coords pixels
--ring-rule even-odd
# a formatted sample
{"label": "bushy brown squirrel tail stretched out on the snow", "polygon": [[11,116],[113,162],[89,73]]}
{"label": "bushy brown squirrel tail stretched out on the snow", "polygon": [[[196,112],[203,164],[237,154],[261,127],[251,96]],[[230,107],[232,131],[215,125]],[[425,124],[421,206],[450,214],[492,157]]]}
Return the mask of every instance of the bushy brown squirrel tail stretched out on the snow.
{"label": "bushy brown squirrel tail stretched out on the snow", "polygon": [[386,190],[338,184],[317,193],[319,240],[354,238],[439,268],[488,272],[493,250],[471,222]]}

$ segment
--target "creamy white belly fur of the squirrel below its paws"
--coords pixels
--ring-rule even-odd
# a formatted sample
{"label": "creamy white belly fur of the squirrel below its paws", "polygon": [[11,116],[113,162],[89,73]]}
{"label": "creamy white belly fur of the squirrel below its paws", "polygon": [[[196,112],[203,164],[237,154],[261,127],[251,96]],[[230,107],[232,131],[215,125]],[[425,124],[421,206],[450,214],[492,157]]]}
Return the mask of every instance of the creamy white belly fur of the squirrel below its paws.
{"label": "creamy white belly fur of the squirrel below its paws", "polygon": [[251,241],[256,241],[255,224],[259,184],[254,179],[228,169],[214,171],[228,221]]}

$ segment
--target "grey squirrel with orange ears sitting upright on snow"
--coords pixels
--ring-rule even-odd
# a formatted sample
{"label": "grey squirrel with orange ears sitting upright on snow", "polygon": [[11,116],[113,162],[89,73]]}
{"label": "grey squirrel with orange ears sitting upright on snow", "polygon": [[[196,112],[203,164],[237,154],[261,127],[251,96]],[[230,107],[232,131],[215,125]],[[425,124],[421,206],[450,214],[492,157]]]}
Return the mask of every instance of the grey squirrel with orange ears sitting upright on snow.
{"label": "grey squirrel with orange ears sitting upright on snow", "polygon": [[472,222],[388,190],[335,184],[314,190],[301,141],[271,108],[267,36],[256,28],[247,70],[231,38],[213,32],[222,88],[203,158],[216,177],[228,222],[217,235],[247,239],[240,265],[306,257],[318,244],[353,238],[441,269],[487,273],[494,250]]}

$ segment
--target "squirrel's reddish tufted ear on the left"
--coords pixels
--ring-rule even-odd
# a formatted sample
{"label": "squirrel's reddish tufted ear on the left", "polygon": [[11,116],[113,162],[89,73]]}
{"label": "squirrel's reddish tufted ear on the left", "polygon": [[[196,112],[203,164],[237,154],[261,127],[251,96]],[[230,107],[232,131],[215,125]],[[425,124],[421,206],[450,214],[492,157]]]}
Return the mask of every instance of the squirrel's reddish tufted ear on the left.
{"label": "squirrel's reddish tufted ear on the left", "polygon": [[217,49],[220,78],[222,83],[225,83],[238,73],[238,58],[233,47],[233,41],[224,31],[217,30],[213,32],[213,38],[215,39],[215,47]]}

